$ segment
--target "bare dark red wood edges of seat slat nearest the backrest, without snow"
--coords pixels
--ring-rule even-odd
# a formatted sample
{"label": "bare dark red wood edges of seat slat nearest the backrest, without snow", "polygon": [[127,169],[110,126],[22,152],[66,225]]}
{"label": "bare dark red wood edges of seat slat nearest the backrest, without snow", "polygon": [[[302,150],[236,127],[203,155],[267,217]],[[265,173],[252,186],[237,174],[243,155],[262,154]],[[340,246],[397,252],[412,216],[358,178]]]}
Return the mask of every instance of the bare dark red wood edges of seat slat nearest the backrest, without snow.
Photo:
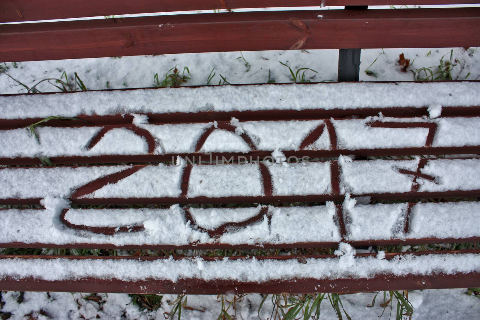
{"label": "bare dark red wood edges of seat slat nearest the backrest, without snow", "polygon": [[[453,82],[453,81],[452,81]],[[456,81],[457,82],[457,81]],[[477,83],[480,80],[468,80],[464,82]],[[383,81],[376,83],[398,83],[395,81]],[[445,81],[417,81],[416,83],[448,83]],[[318,83],[268,83],[262,85],[315,85]],[[233,86],[251,86],[251,84],[231,84]],[[335,85],[335,83],[322,83],[322,85]],[[188,86],[189,88],[199,88],[205,86]],[[132,91],[132,90],[164,90],[166,88],[126,88],[126,89],[108,89],[108,90],[89,90],[89,91]],[[24,95],[81,95],[81,92],[43,92],[35,94],[9,94],[2,96],[24,96]],[[344,118],[366,118],[378,116],[382,112],[385,117],[403,118],[403,117],[423,117],[428,116],[427,107],[384,107],[384,108],[348,108],[348,109],[303,109],[303,110],[255,110],[255,111],[201,111],[195,113],[172,112],[162,114],[147,114],[148,122],[151,124],[165,123],[200,123],[211,121],[230,121],[231,118],[237,118],[240,121],[255,120],[301,120],[301,119],[344,119]],[[442,117],[480,117],[479,106],[457,106],[442,107]],[[0,114],[1,118],[1,114]],[[99,126],[112,124],[132,124],[133,116],[130,114],[118,114],[111,116],[87,116],[78,115],[82,120],[52,119],[42,123],[42,126],[53,127],[83,127]],[[31,119],[0,119],[0,130],[23,128],[32,123],[36,123],[42,118]]]}

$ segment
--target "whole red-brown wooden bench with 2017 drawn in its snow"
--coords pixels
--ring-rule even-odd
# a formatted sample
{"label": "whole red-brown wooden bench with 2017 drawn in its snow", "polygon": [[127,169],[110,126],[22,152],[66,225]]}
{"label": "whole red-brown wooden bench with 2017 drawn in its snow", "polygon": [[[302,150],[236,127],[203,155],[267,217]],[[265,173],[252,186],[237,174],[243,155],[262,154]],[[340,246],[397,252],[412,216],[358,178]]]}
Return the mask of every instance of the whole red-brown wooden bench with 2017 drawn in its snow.
{"label": "whole red-brown wooden bench with 2017 drawn in its snow", "polygon": [[[67,2],[4,1],[0,22],[319,4]],[[368,4],[397,3],[322,1]],[[344,48],[339,78],[358,80],[360,47],[472,47],[480,44],[479,28],[479,8],[4,24],[0,60]],[[480,286],[479,249],[355,249],[480,242],[479,92],[480,82],[471,81],[0,96],[0,247],[187,250],[142,257],[4,254],[0,290],[213,294]],[[55,115],[76,119],[48,120],[31,127],[35,134],[25,129]],[[199,256],[204,249],[225,251]],[[254,249],[299,250],[258,256]]]}

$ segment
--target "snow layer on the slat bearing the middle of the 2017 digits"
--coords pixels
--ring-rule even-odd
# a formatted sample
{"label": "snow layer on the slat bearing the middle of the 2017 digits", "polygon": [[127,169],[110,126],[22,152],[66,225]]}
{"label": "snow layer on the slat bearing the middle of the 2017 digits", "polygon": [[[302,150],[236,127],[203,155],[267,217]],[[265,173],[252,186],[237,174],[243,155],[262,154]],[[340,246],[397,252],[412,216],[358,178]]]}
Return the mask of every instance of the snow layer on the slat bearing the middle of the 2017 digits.
{"label": "snow layer on the slat bearing the middle of the 2017 digits", "polygon": [[[340,193],[355,195],[480,190],[480,158],[348,161],[339,158]],[[274,196],[332,195],[331,166],[336,162],[272,164],[267,167]],[[420,173],[417,172],[420,166]],[[1,168],[0,199],[69,198],[72,191],[108,174],[126,170],[126,178],[99,185],[84,199],[176,198],[181,195],[183,165]],[[402,171],[403,170],[403,171]],[[419,176],[420,175],[420,176]],[[430,179],[430,180],[429,180]],[[186,198],[264,196],[260,165],[194,165]]]}

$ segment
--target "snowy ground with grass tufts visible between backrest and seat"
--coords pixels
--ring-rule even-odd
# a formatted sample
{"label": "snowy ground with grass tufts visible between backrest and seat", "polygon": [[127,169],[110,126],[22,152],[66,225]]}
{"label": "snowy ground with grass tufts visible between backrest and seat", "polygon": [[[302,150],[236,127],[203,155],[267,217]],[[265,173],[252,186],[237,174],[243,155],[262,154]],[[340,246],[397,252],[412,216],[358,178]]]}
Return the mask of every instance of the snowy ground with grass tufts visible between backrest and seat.
{"label": "snowy ground with grass tufts visible between backrest and seat", "polygon": [[[451,75],[453,80],[475,80],[480,77],[480,52],[478,48],[420,48],[420,49],[363,49],[361,51],[360,80],[362,81],[413,81],[414,71],[430,68],[438,71],[440,59],[450,61],[453,49]],[[399,55],[410,59],[409,67],[403,72],[399,65]],[[243,54],[243,59],[241,59]],[[240,57],[240,59],[238,59]],[[377,59],[378,58],[378,59]],[[374,62],[374,60],[376,61]],[[246,66],[246,62],[248,66]],[[12,78],[29,88],[43,79],[60,79],[66,72],[70,83],[75,83],[74,72],[90,90],[123,89],[155,86],[154,76],[158,73],[161,81],[164,74],[177,67],[180,73],[190,77],[184,85],[205,85],[224,83],[290,83],[291,75],[286,66],[295,72],[299,68],[310,68],[305,78],[311,82],[336,81],[338,70],[338,50],[283,50],[171,54],[156,56],[132,56],[98,59],[70,59],[49,61],[27,61],[7,63],[7,74],[0,74],[0,94],[26,93],[27,90]],[[372,62],[374,62],[372,64]],[[372,64],[372,66],[370,66]],[[16,67],[16,68],[15,68]],[[213,72],[212,72],[213,70]],[[368,75],[365,71],[369,72]],[[300,71],[300,75],[303,71]],[[427,71],[429,72],[429,71]],[[430,73],[427,73],[430,75]],[[425,72],[419,72],[425,77]],[[434,78],[439,76],[437,73]],[[65,81],[64,78],[60,79]],[[431,80],[431,77],[430,77]],[[52,84],[55,80],[50,81]],[[60,91],[47,81],[36,86],[41,92]]]}

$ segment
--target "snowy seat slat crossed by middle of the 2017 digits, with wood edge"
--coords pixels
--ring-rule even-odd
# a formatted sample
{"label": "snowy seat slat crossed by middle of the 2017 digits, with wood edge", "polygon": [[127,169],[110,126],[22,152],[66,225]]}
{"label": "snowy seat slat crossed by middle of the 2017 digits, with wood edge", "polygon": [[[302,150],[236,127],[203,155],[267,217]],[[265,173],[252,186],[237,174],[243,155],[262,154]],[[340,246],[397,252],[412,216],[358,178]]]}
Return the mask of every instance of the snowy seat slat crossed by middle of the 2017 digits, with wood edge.
{"label": "snowy seat slat crossed by middle of the 2017 digits, with wood edge", "polygon": [[[0,168],[1,204],[269,203],[476,197],[479,158]],[[351,159],[350,159],[351,161]],[[467,180],[468,179],[468,180]],[[134,188],[132,188],[134,186]],[[248,187],[247,187],[248,186]]]}

